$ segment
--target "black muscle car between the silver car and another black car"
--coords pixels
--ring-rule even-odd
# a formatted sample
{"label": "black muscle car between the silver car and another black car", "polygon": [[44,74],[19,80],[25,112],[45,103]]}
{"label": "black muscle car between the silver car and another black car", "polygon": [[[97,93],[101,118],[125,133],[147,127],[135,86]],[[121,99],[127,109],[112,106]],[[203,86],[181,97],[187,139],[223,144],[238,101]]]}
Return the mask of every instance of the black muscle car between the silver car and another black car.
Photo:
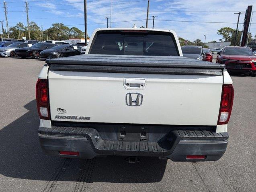
{"label": "black muscle car between the silver car and another black car", "polygon": [[15,53],[18,57],[29,58],[33,57],[34,59],[40,58],[40,52],[45,49],[50,49],[56,46],[53,43],[37,43],[29,48],[19,48],[15,50]]}

